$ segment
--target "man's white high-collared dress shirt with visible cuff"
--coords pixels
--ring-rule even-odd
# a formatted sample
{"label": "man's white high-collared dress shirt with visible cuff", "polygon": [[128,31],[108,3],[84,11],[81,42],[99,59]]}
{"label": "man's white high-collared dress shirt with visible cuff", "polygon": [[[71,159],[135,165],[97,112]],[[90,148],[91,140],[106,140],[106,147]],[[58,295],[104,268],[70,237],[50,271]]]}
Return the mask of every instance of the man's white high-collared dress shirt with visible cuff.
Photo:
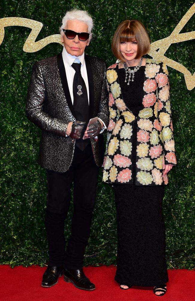
{"label": "man's white high-collared dress shirt with visible cuff", "polygon": [[[72,104],[74,101],[73,79],[74,79],[75,70],[71,65],[74,62],[78,63],[79,61],[81,62],[81,75],[82,75],[82,78],[84,79],[84,82],[85,82],[85,85],[87,88],[87,96],[88,96],[88,103],[89,103],[89,84],[88,84],[88,77],[87,77],[87,69],[86,69],[86,65],[85,65],[85,53],[83,52],[82,55],[76,57],[74,55],[67,53],[66,48],[63,47],[62,58],[63,58],[63,62],[64,62],[64,68],[66,71],[67,83],[68,83],[68,88],[69,88]],[[100,118],[98,118],[98,119],[100,119]],[[106,129],[106,125],[105,125],[104,121],[101,120],[101,122],[104,124],[104,126],[100,133],[102,133],[104,131],[104,129]]]}

